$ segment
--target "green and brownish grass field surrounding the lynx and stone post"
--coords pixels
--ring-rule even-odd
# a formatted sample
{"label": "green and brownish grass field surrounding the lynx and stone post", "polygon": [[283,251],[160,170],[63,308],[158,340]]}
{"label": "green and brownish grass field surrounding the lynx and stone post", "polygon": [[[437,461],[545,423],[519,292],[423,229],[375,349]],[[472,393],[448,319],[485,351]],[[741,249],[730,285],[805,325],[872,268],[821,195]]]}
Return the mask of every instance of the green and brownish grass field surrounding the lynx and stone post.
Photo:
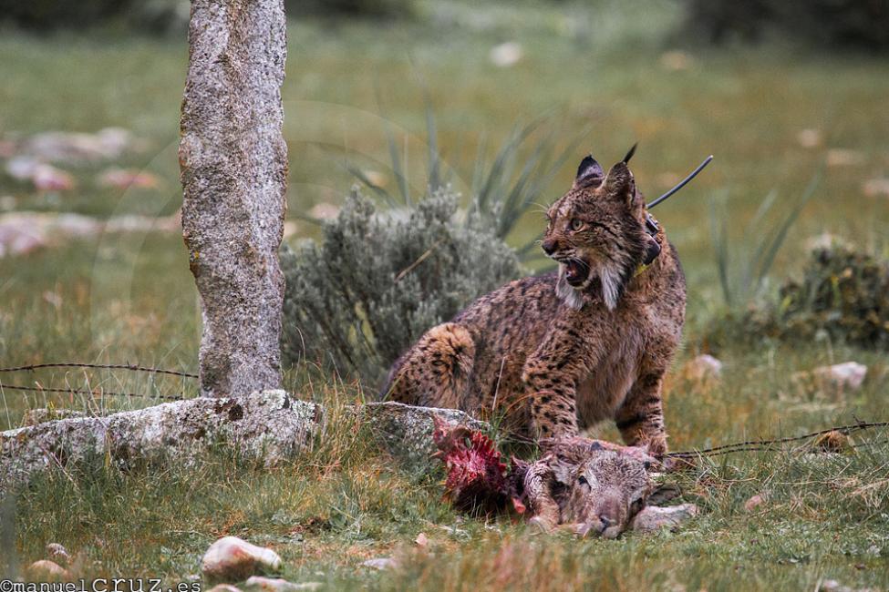
{"label": "green and brownish grass field surrounding the lynx and stone post", "polygon": [[[743,261],[764,240],[765,229],[746,228],[770,191],[778,195],[770,217],[782,219],[824,168],[830,148],[858,150],[861,164],[824,168],[770,276],[798,270],[804,240],[825,230],[884,250],[889,200],[865,197],[861,188],[889,169],[889,62],[770,45],[687,49],[688,68],[672,71],[661,56],[677,46],[669,35],[678,18],[676,5],[666,2],[447,2],[422,5],[416,22],[295,24],[283,94],[297,237],[315,236],[303,214],[346,194],[354,180],[349,166],[377,171],[398,192],[387,126],[407,147],[409,185],[422,191],[428,100],[442,158],[464,194],[480,150],[491,158],[515,128],[540,116],[539,136],[558,138],[555,153],[589,129],[577,160],[591,149],[610,163],[638,140],[634,171],[649,198],[669,188],[670,175],[716,155],[693,185],[656,209],[689,281],[686,348],[677,367],[706,347],[702,328],[723,307],[708,220],[710,201],[722,192],[729,258]],[[509,40],[522,43],[524,58],[510,68],[492,66],[491,46]],[[183,42],[5,32],[0,54],[0,132],[129,128],[147,146],[114,164],[148,168],[163,181],[157,191],[121,194],[95,186],[98,167],[78,168],[78,190],[52,196],[0,174],[0,196],[14,196],[16,209],[99,217],[166,215],[179,207]],[[804,128],[819,129],[822,146],[802,148],[797,134]],[[530,156],[532,144],[528,150]],[[567,189],[575,164],[569,159],[536,200],[548,203]],[[512,243],[523,244],[541,226],[542,217],[529,214]],[[199,327],[186,253],[175,235],[107,235],[0,260],[0,365],[75,360],[194,370]],[[886,419],[884,355],[813,342],[729,347],[720,356],[726,369],[719,383],[671,377],[674,449],[800,434],[853,416]],[[794,372],[847,360],[869,366],[859,393],[812,397],[791,380]],[[354,386],[310,374],[312,381],[288,373],[286,386],[318,400],[360,396]],[[121,373],[47,371],[15,380],[194,393],[189,383]],[[106,411],[151,403],[8,390],[3,397],[0,427],[47,403]],[[814,589],[821,578],[889,587],[885,445],[821,465],[801,454],[718,459],[675,477],[687,499],[705,509],[677,533],[577,541],[531,536],[505,517],[484,523],[455,515],[439,501],[435,479],[398,471],[347,427],[335,428],[339,435],[315,454],[273,470],[220,453],[188,472],[47,475],[17,500],[18,564],[41,558],[43,546],[55,541],[81,556],[84,576],[175,581],[197,572],[212,540],[233,534],[273,546],[286,577],[342,589],[795,590]],[[617,436],[610,426],[601,434]],[[744,501],[761,491],[770,492],[770,502],[746,513]],[[428,552],[412,544],[420,532],[429,536]],[[359,566],[393,555],[403,564],[393,572]]]}

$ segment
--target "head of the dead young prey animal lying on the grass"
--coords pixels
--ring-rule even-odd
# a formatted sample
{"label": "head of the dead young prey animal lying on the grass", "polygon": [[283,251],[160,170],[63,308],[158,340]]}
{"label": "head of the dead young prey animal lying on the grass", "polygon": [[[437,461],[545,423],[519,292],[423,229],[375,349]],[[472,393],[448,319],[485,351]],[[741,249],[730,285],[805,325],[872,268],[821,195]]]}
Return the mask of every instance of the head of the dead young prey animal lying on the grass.
{"label": "head of the dead young prey animal lying on the grass", "polygon": [[580,536],[615,538],[646,505],[653,490],[648,467],[625,454],[602,452],[577,466],[562,521]]}

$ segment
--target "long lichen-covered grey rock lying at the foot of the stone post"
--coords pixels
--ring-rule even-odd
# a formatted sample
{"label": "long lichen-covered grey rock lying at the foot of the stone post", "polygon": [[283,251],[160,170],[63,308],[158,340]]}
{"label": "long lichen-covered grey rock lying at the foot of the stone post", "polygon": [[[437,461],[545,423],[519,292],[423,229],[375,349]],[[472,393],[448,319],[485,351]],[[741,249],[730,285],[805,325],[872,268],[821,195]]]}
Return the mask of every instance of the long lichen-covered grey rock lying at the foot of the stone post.
{"label": "long lichen-covered grey rock lying at the foot of the stone post", "polygon": [[[0,490],[47,467],[108,458],[190,466],[219,443],[275,464],[312,444],[321,410],[284,391],[240,398],[199,397],[154,407],[77,417],[0,432]],[[431,421],[431,420],[430,420]],[[54,451],[64,450],[65,454]]]}

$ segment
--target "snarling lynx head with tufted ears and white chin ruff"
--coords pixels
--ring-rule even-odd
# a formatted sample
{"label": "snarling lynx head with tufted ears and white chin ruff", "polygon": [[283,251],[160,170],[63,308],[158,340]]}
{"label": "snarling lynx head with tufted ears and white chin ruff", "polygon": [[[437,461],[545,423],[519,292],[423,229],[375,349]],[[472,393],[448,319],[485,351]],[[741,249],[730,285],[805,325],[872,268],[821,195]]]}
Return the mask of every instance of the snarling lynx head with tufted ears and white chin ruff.
{"label": "snarling lynx head with tufted ears and white chin ruff", "polygon": [[592,156],[572,188],[546,212],[543,251],[559,262],[559,296],[579,309],[600,297],[614,309],[636,268],[656,242],[646,232],[646,206],[627,162],[636,146],[605,175]]}

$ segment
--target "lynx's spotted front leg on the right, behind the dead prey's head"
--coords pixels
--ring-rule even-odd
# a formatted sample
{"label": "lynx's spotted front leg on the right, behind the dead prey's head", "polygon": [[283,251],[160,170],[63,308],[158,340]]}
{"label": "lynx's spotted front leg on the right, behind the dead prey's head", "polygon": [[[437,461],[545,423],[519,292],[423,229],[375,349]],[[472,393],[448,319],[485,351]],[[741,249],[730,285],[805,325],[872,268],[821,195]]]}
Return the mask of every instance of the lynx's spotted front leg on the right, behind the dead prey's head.
{"label": "lynx's spotted front leg on the right, behind the dead prey's head", "polygon": [[624,442],[630,446],[647,446],[648,453],[657,458],[667,454],[663,384],[663,371],[642,374],[615,413],[615,423]]}

